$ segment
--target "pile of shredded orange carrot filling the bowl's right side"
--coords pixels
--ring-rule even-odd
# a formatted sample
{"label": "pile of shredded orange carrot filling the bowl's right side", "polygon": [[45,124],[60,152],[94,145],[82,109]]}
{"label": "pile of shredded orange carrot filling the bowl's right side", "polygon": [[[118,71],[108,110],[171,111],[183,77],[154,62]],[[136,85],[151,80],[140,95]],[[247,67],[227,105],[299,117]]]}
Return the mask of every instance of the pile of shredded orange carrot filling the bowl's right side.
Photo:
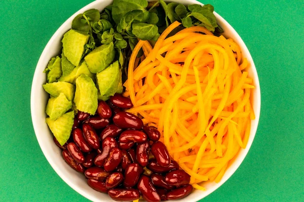
{"label": "pile of shredded orange carrot filling the bowl's right side", "polygon": [[[249,68],[232,39],[190,27],[173,36],[174,22],[154,48],[139,41],[133,50],[124,96],[130,96],[143,122],[157,127],[171,157],[191,175],[191,184],[205,190],[219,182],[226,168],[245,148],[254,112]],[[137,58],[142,48],[144,55]]]}

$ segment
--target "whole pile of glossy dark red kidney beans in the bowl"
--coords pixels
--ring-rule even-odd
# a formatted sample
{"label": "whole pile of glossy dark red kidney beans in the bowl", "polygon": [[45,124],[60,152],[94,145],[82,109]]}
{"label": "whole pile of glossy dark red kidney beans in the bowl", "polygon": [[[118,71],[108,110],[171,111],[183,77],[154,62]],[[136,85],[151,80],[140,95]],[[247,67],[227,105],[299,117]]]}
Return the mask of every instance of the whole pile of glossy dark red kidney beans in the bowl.
{"label": "whole pile of glossy dark red kidney beans in the bowl", "polygon": [[99,102],[95,116],[78,112],[69,141],[61,146],[54,138],[63,159],[85,174],[89,186],[114,200],[142,196],[156,202],[187,196],[193,189],[190,176],[171,160],[155,127],[124,112],[132,107],[129,98],[115,94],[108,104]]}

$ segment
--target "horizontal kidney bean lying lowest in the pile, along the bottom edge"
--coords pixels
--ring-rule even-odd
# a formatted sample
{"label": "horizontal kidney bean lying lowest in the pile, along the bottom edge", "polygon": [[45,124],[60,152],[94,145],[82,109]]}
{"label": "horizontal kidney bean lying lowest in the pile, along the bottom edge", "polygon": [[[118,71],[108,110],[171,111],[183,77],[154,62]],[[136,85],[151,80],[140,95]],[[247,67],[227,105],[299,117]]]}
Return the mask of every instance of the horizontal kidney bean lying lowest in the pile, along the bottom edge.
{"label": "horizontal kidney bean lying lowest in the pile, along the bottom edge", "polygon": [[109,196],[117,201],[130,201],[137,200],[140,193],[137,189],[111,189],[108,191]]}

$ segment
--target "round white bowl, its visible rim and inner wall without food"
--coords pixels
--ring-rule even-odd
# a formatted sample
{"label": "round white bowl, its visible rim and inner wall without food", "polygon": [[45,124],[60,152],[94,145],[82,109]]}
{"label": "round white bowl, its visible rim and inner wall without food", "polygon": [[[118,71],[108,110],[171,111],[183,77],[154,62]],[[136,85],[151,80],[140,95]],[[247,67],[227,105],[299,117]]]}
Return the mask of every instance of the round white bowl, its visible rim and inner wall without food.
{"label": "round white bowl, its visible rim and inner wall without food", "polygon": [[[170,2],[178,2],[181,4],[200,4],[195,0],[170,0]],[[72,15],[67,21],[63,23],[59,27],[59,29],[55,32],[52,36],[48,44],[46,45],[39,62],[37,64],[32,88],[31,88],[31,117],[33,122],[33,127],[36,133],[37,140],[40,144],[40,147],[53,167],[56,173],[75,191],[82,194],[84,197],[92,200],[92,201],[112,201],[112,199],[105,193],[100,193],[98,191],[93,190],[87,184],[84,174],[78,173],[70,168],[62,158],[61,150],[58,148],[53,142],[53,135],[46,124],[46,114],[45,108],[48,100],[48,94],[43,89],[42,85],[46,83],[46,75],[43,73],[44,69],[47,67],[48,62],[54,56],[57,56],[60,52],[62,45],[61,39],[63,34],[71,28],[72,20],[75,16],[80,13],[83,13],[89,9],[98,9],[101,11],[104,7],[111,4],[112,0],[100,0],[94,1],[91,4],[87,5],[86,7],[79,10],[77,13]],[[253,90],[252,94],[252,104],[253,110],[255,112],[256,119],[251,122],[251,131],[250,137],[248,140],[247,147],[245,149],[241,149],[237,158],[235,159],[234,163],[226,170],[225,174],[223,175],[221,181],[219,183],[206,183],[205,187],[207,188],[206,191],[195,190],[189,196],[176,200],[176,201],[198,201],[214,190],[216,190],[219,186],[221,186],[227,179],[229,179],[233,173],[237,170],[237,168],[241,165],[242,161],[244,160],[245,156],[248,153],[248,150],[252,144],[254,135],[256,133],[258,119],[260,114],[260,87],[259,81],[256,73],[256,69],[251,58],[251,55],[239,36],[239,34],[234,30],[234,28],[227,23],[222,17],[220,17],[217,13],[214,13],[218,24],[223,28],[224,36],[233,38],[241,47],[243,56],[248,59],[251,68],[249,69],[249,77],[253,78],[255,89]]]}

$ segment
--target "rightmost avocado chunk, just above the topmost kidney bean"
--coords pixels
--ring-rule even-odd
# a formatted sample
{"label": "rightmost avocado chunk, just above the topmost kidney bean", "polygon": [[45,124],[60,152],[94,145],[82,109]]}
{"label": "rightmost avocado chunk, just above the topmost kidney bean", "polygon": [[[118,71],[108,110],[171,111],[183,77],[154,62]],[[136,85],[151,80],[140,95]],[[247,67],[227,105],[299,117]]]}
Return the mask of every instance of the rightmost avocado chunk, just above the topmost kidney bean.
{"label": "rightmost avocado chunk, just above the topmost kidney bean", "polygon": [[96,74],[101,96],[111,96],[116,93],[121,77],[119,62],[111,64],[105,70]]}

